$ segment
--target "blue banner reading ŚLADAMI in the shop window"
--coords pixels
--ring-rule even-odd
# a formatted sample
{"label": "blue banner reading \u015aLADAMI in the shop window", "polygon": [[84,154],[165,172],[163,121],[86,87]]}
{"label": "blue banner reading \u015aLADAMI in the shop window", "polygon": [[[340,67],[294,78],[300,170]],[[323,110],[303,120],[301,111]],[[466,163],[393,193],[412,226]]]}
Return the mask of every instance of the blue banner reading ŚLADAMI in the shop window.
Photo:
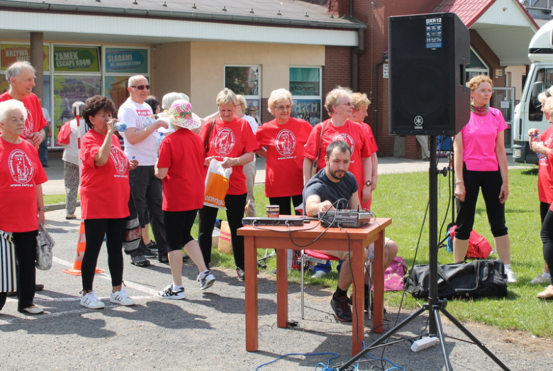
{"label": "blue banner reading \u015aLADAMI in the shop window", "polygon": [[106,48],[106,72],[147,74],[147,49]]}

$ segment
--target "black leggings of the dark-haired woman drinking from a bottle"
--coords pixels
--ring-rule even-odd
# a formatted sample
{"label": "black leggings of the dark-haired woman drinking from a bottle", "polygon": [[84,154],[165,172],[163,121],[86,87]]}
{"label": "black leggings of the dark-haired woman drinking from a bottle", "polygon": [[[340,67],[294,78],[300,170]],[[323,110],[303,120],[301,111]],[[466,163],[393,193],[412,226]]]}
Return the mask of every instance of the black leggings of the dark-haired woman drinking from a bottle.
{"label": "black leggings of the dark-haired woman drinking from a bottle", "polygon": [[108,249],[108,267],[111,275],[111,286],[116,287],[123,282],[123,238],[125,237],[126,218],[117,219],[86,219],[84,221],[84,236],[86,250],[82,258],[82,288],[92,290],[94,272],[100,248],[106,235]]}

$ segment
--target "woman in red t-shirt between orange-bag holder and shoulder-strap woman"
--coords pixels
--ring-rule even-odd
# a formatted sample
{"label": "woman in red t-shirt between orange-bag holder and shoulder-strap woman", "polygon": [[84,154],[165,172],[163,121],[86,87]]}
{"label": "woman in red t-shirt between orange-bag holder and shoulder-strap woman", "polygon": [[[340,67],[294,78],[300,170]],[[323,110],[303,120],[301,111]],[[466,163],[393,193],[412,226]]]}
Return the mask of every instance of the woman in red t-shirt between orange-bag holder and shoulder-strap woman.
{"label": "woman in red t-shirt between orange-bag holder and shoulder-strap woman", "polygon": [[267,157],[265,165],[265,196],[272,205],[279,205],[280,214],[291,215],[303,202],[303,148],[313,127],[310,123],[290,117],[294,103],[286,89],[274,90],[267,101],[274,120],[259,126],[255,138]]}

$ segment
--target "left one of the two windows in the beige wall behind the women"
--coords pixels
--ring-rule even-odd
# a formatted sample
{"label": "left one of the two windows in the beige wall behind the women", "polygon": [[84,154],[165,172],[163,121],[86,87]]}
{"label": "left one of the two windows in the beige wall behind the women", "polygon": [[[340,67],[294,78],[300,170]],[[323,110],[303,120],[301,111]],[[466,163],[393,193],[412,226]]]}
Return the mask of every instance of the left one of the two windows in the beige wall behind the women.
{"label": "left one of the two windows in the beige wall behind the women", "polygon": [[225,66],[225,87],[244,96],[247,105],[255,107],[257,112],[261,106],[260,77],[261,67],[257,65]]}

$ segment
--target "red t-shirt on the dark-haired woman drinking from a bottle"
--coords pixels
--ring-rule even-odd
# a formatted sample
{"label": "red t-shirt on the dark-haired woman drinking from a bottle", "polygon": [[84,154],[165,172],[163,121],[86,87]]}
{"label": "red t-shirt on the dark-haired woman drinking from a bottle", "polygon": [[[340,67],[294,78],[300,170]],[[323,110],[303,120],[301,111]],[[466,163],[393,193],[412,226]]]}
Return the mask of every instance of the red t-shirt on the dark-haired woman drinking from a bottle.
{"label": "red t-shirt on the dark-haired woman drinking from a bottle", "polygon": [[81,215],[83,219],[116,219],[129,216],[128,158],[119,138],[113,135],[111,153],[104,166],[96,166],[94,157],[106,135],[91,129],[81,143]]}

